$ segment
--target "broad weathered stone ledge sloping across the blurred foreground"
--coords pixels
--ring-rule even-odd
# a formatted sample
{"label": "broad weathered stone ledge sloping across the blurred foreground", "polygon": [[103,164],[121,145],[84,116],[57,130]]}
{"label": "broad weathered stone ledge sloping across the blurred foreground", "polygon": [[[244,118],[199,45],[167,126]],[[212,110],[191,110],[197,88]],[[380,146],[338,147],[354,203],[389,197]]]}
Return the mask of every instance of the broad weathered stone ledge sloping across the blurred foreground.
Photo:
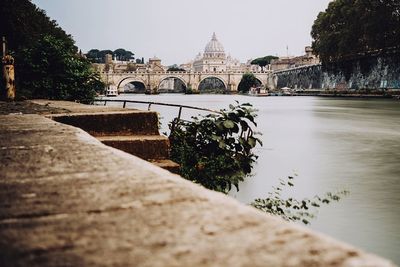
{"label": "broad weathered stone ledge sloping across the blurred foreground", "polygon": [[39,115],[0,116],[0,266],[394,266]]}

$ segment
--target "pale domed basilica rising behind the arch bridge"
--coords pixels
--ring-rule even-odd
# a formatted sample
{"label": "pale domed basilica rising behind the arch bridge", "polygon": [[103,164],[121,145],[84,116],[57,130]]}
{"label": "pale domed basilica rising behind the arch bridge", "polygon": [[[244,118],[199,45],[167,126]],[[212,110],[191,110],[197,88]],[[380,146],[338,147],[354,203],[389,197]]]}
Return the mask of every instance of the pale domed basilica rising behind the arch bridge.
{"label": "pale domed basilica rising behind the arch bridge", "polygon": [[225,71],[239,71],[244,64],[239,60],[226,56],[224,47],[218,41],[215,33],[212,35],[211,41],[208,42],[204,49],[204,53],[199,53],[196,58],[181,65],[186,70],[195,72],[225,72]]}

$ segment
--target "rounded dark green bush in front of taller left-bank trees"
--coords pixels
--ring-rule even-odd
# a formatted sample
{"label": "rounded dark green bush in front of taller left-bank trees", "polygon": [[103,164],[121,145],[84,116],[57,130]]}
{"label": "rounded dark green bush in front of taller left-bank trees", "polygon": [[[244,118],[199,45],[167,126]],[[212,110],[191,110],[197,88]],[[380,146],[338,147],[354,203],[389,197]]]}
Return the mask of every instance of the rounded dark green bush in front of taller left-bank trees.
{"label": "rounded dark green bush in front of taller left-bank trees", "polygon": [[[96,89],[103,87],[90,63],[71,54],[65,43],[53,36],[44,36],[21,54],[25,60],[19,65],[21,93],[28,98],[90,101]],[[17,55],[17,60],[23,60]]]}

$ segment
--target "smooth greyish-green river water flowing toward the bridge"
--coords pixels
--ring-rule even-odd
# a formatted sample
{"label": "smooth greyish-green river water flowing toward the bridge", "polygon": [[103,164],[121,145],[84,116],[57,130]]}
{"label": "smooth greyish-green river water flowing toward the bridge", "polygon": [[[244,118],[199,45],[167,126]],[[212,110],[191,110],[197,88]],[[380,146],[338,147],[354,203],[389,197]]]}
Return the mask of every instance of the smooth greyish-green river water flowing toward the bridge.
{"label": "smooth greyish-green river water flowing toward the bridge", "polygon": [[[295,186],[286,195],[313,197],[346,189],[350,194],[322,207],[309,227],[400,265],[400,101],[179,94],[117,99],[211,109],[227,108],[234,100],[253,104],[264,146],[257,148],[254,176],[230,195],[249,203],[294,173]],[[178,111],[153,107],[165,131]],[[183,117],[198,113],[184,109]]]}

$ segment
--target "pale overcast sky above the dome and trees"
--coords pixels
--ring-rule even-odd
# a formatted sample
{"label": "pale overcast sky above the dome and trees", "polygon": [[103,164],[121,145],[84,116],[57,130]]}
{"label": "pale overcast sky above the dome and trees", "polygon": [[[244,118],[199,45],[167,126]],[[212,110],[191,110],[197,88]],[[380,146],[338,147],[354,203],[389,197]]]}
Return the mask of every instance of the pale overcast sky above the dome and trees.
{"label": "pale overcast sky above the dome and trees", "polygon": [[180,64],[215,32],[225,52],[246,62],[301,55],[311,26],[331,0],[33,0],[82,51],[125,48],[136,57]]}

